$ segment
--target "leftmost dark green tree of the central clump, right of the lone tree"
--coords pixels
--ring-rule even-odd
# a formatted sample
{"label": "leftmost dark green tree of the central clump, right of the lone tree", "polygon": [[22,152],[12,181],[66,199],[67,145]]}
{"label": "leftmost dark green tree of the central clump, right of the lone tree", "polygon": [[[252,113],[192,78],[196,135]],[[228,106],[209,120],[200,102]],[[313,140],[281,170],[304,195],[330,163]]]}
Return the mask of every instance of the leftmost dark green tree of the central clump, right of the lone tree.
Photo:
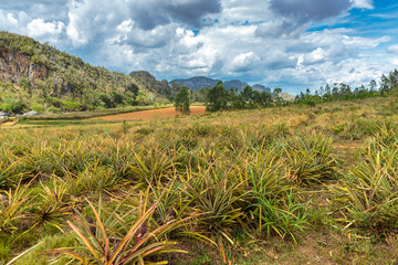
{"label": "leftmost dark green tree of the central clump, right of the lone tree", "polygon": [[221,81],[219,81],[213,87],[207,89],[206,102],[208,112],[218,112],[220,109],[227,109],[229,93],[224,88]]}

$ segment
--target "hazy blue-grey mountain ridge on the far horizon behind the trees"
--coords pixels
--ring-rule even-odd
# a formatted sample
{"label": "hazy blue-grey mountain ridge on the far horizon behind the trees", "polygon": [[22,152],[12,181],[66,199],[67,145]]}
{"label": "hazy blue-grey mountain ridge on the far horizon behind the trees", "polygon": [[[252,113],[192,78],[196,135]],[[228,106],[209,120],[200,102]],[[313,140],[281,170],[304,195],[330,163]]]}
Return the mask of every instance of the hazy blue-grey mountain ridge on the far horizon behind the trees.
{"label": "hazy blue-grey mountain ridge on the far horizon behind the trees", "polygon": [[[174,80],[174,81],[170,81],[170,84],[181,84],[193,91],[199,91],[200,88],[212,87],[217,84],[217,82],[219,82],[219,80],[212,80],[212,78],[209,78],[206,76],[193,76],[193,77],[186,78],[186,80],[184,80],[184,78],[182,80]],[[243,88],[248,85],[248,83],[239,81],[239,80],[231,80],[231,81],[223,82],[223,85],[227,89],[234,87],[234,88],[238,88],[238,91],[243,91]],[[253,85],[252,88],[255,91],[260,91],[260,92],[261,91],[271,92],[270,87],[265,87],[260,84]]]}

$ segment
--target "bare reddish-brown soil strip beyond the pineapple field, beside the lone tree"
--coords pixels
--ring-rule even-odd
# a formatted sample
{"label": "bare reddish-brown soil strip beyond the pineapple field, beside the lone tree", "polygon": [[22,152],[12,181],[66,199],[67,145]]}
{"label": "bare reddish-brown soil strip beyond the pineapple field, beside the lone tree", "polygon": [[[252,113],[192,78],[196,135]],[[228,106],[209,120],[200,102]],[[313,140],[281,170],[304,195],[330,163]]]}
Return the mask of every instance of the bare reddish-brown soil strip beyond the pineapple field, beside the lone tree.
{"label": "bare reddish-brown soil strip beyond the pineapple field, beside the lone tree", "polygon": [[[191,115],[202,114],[206,110],[205,106],[191,106]],[[134,112],[126,114],[117,114],[104,117],[96,117],[91,119],[102,119],[102,120],[132,120],[132,119],[153,119],[153,118],[164,118],[164,117],[174,117],[176,116],[176,108],[161,108],[161,109],[151,109],[143,112]]]}

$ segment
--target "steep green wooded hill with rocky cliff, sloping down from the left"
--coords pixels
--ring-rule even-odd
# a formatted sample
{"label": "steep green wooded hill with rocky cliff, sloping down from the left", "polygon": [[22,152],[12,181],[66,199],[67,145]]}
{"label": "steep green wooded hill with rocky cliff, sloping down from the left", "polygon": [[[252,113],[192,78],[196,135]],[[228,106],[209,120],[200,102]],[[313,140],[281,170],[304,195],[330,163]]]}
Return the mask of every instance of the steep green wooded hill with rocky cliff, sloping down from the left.
{"label": "steep green wooded hill with rocky cliff, sloping down from the left", "polygon": [[0,31],[0,110],[148,105],[167,100],[170,89],[167,81],[147,72],[111,72],[46,43]]}

